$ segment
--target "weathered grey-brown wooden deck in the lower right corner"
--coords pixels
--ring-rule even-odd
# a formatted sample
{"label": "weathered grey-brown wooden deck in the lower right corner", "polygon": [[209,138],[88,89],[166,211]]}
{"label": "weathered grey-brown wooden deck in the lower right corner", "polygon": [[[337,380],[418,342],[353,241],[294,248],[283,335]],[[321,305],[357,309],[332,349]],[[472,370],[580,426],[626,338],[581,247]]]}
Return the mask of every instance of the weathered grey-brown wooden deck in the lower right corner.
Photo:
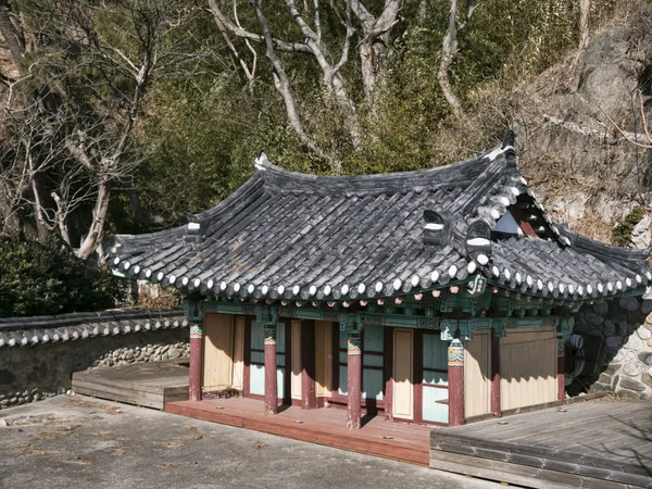
{"label": "weathered grey-brown wooden deck in the lower right corner", "polygon": [[652,402],[598,400],[432,430],[430,467],[526,487],[652,488]]}

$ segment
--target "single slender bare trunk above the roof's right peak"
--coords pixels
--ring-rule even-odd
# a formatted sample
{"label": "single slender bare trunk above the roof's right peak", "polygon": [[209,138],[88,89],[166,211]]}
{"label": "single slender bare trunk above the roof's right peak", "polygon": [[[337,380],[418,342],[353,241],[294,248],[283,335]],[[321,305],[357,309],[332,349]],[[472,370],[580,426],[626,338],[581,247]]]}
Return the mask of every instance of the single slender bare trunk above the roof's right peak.
{"label": "single slender bare trunk above the roof's right peak", "polygon": [[451,0],[451,10],[449,11],[449,27],[443,37],[441,47],[441,61],[439,62],[439,71],[437,73],[437,79],[441,91],[446,97],[453,114],[457,118],[464,118],[464,111],[462,104],[455,95],[455,90],[451,84],[450,71],[457,57],[459,41],[457,36],[466,27],[468,21],[473,16],[474,12],[478,7],[485,3],[486,0],[479,0],[477,2],[466,1],[466,14],[462,22],[457,22],[457,0]]}

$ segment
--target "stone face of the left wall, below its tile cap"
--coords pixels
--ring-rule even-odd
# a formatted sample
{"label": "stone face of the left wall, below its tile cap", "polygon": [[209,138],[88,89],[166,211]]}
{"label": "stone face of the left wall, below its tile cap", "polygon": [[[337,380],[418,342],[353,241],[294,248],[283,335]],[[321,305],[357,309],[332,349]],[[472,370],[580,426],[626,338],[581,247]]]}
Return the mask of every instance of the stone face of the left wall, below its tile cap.
{"label": "stone face of the left wall, below its tile cap", "polygon": [[65,393],[73,372],[189,355],[188,329],[0,348],[0,410]]}

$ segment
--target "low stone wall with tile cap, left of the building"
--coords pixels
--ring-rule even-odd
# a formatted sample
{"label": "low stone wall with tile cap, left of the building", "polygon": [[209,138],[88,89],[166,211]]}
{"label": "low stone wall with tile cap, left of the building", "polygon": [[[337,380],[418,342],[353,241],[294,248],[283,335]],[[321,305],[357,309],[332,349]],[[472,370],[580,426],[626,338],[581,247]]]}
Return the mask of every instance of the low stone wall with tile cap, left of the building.
{"label": "low stone wall with tile cap, left of the building", "polygon": [[0,319],[0,409],[71,388],[73,372],[188,356],[179,310]]}

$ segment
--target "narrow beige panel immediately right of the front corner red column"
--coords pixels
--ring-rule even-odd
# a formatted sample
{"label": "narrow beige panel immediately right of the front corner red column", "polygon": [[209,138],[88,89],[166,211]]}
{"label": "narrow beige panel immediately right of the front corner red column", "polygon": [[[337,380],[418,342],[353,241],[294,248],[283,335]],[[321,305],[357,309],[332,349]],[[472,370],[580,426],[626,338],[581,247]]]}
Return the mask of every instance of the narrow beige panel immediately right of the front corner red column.
{"label": "narrow beige panel immediately right of the front corner red column", "polygon": [[491,412],[491,331],[475,331],[464,344],[464,415]]}

